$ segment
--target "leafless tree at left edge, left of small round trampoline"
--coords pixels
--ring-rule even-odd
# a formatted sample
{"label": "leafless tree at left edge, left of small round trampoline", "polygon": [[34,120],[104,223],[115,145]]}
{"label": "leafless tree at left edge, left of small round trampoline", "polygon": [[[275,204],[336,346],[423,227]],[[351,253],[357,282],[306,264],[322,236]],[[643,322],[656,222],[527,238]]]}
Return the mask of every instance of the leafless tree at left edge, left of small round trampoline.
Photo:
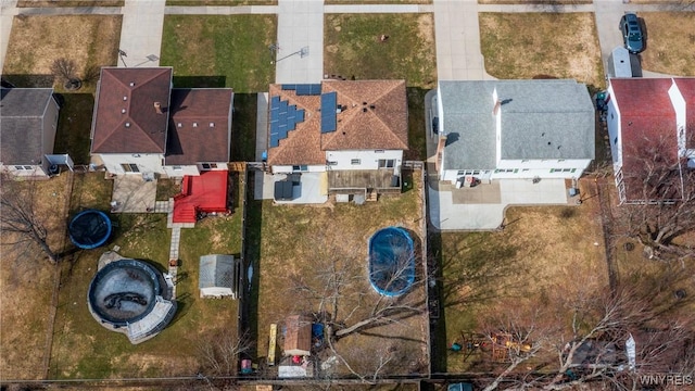
{"label": "leafless tree at left edge, left of small round trampoline", "polygon": [[35,186],[28,190],[14,186],[12,179],[3,177],[0,189],[0,231],[2,244],[18,251],[36,248],[51,263],[58,263],[60,253],[49,244],[49,229],[35,211]]}

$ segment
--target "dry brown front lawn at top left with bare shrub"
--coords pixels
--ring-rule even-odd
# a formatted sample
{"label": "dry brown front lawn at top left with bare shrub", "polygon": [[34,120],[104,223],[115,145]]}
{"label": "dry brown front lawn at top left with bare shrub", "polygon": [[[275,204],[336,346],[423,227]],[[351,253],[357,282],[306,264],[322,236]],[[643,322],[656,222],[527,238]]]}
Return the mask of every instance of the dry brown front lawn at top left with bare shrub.
{"label": "dry brown front lawn at top left with bare shrub", "polygon": [[121,21],[121,15],[15,16],[2,74],[21,87],[46,87],[52,84],[51,64],[61,58],[75,62],[78,76],[90,66],[115,65]]}

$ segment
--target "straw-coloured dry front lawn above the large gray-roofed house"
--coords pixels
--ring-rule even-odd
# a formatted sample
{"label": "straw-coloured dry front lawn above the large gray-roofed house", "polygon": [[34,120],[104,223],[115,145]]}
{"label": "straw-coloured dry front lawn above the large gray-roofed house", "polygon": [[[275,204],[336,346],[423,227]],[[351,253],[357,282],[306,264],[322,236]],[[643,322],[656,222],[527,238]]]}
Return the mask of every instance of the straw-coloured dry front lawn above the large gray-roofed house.
{"label": "straw-coloured dry front lawn above the large gray-roofed house", "polygon": [[481,13],[485,71],[502,79],[573,78],[605,87],[593,13]]}

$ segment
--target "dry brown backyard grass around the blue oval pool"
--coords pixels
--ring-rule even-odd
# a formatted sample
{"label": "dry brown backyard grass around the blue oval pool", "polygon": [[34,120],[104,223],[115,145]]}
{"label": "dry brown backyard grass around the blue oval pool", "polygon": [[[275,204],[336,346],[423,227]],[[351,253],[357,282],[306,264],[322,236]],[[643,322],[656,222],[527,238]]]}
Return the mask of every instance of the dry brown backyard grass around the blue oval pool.
{"label": "dry brown backyard grass around the blue oval pool", "polygon": [[[416,189],[421,187],[419,179]],[[362,206],[336,204],[331,207],[274,206],[263,204],[263,231],[261,237],[260,298],[257,314],[257,355],[267,354],[267,332],[271,323],[282,323],[288,315],[317,312],[317,301],[306,300],[292,290],[291,277],[303,276],[307,282],[318,288],[316,275],[326,268],[328,258],[336,254],[348,263],[353,277],[343,288],[339,300],[339,319],[346,319],[348,326],[366,316],[371,305],[379,300],[367,277],[367,244],[369,237],[388,226],[402,226],[422,240],[419,228],[419,190],[409,190],[399,198],[382,198],[379,202]],[[267,235],[264,235],[267,234]],[[418,270],[421,275],[421,270]],[[359,293],[359,299],[357,298]],[[420,302],[425,298],[422,286],[407,293],[407,300]],[[357,308],[352,316],[349,313]],[[332,307],[328,308],[332,311]],[[407,373],[426,360],[425,315],[404,319],[402,323],[371,328],[368,333],[351,335],[336,343],[336,349],[364,369],[369,360],[377,356],[380,348],[397,338],[400,352],[408,352],[409,361],[402,363],[399,373]],[[281,343],[279,344],[281,346]],[[278,352],[280,356],[280,352]],[[362,357],[362,360],[358,358]],[[366,360],[368,357],[369,360]],[[344,368],[338,369],[344,371]]]}

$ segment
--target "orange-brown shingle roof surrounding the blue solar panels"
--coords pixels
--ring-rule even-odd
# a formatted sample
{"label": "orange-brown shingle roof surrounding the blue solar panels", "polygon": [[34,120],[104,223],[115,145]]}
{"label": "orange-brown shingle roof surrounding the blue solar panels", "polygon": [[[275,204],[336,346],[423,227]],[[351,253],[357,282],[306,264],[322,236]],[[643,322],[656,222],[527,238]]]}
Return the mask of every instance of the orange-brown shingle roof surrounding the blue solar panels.
{"label": "orange-brown shingle roof surrounding the blue solar panels", "polygon": [[294,90],[270,85],[270,97],[288,100],[305,114],[304,122],[290,130],[279,147],[268,148],[268,164],[325,164],[325,151],[407,150],[405,80],[325,80],[321,92],[336,92],[338,105],[343,108],[332,133],[320,133],[320,96],[296,96]]}

